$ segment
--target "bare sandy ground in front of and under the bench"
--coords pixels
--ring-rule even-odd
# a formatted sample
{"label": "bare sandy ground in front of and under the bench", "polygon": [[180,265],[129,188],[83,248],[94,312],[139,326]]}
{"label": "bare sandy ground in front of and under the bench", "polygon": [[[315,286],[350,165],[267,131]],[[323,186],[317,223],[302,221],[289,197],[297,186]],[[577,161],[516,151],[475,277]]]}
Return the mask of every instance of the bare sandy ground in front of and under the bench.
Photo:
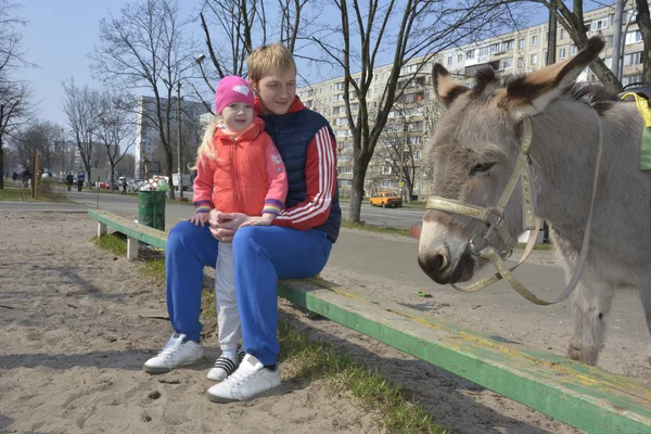
{"label": "bare sandy ground in front of and under the bench", "polygon": [[[0,432],[381,432],[350,397],[288,373],[272,394],[210,403],[214,335],[204,362],[143,372],[171,332],[152,318],[165,310],[164,291],[139,277],[138,264],[90,243],[95,228],[84,214],[0,212]],[[349,329],[281,308],[283,319],[412,391],[451,432],[578,432]]]}

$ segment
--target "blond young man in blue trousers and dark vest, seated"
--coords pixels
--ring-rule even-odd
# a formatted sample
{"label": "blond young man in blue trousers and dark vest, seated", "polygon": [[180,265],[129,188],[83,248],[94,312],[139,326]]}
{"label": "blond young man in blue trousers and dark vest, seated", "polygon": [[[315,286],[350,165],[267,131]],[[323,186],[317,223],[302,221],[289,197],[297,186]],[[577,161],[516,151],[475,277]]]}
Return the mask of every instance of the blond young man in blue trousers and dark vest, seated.
{"label": "blond young man in blue trousers and dark vest, seated", "polygon": [[183,221],[170,231],[165,252],[167,309],[176,333],[144,365],[148,372],[167,372],[202,358],[203,268],[215,266],[218,243],[232,242],[246,355],[235,372],[208,390],[214,401],[247,399],[280,385],[278,279],[319,273],[341,225],[334,135],[328,122],[296,97],[292,54],[281,44],[261,47],[251,53],[247,66],[258,94],[256,112],[285,165],[285,209],[269,227],[240,228],[250,216],[213,209],[209,228]]}

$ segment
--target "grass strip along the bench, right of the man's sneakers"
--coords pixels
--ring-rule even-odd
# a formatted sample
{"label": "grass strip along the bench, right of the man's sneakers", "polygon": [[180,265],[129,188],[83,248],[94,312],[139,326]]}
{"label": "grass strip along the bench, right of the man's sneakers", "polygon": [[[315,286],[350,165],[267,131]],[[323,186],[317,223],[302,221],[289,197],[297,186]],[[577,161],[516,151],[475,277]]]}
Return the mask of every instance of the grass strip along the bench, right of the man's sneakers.
{"label": "grass strip along the bench, right of the man's sneakers", "polygon": [[349,391],[367,411],[378,412],[387,432],[447,433],[376,369],[370,370],[349,355],[337,355],[331,345],[311,342],[284,322],[279,323],[279,341],[280,360],[291,365],[293,380],[324,378],[332,394]]}

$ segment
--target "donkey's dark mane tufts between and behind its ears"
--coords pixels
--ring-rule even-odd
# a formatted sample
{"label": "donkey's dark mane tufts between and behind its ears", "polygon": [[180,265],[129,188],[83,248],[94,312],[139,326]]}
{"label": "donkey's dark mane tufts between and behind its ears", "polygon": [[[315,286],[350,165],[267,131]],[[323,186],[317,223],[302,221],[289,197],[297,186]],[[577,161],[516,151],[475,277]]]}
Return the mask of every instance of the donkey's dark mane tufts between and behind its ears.
{"label": "donkey's dark mane tufts between and behind its ears", "polygon": [[[509,77],[498,78],[490,66],[484,66],[475,73],[475,86],[472,89],[471,98],[478,98],[492,84],[499,84],[508,87],[511,82],[524,77],[524,74],[514,74]],[[575,101],[583,101],[602,115],[613,106],[618,98],[609,92],[602,85],[575,82],[561,94]]]}

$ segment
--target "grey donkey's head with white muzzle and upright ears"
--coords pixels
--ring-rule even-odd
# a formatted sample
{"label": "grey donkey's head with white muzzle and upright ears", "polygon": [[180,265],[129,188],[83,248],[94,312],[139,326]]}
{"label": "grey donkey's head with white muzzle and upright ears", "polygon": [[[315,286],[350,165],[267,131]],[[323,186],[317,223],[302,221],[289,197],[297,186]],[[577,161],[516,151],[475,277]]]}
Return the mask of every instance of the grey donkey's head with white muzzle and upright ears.
{"label": "grey donkey's head with white muzzle and upright ears", "polygon": [[[434,65],[434,90],[447,112],[437,123],[426,149],[433,169],[432,195],[483,208],[495,208],[514,171],[523,136],[523,120],[546,110],[576,79],[603,48],[591,38],[574,58],[500,85],[492,68],[482,69],[471,90]],[[534,143],[535,145],[535,143]],[[518,186],[505,208],[508,231],[522,231],[523,212]],[[427,209],[423,216],[418,261],[437,283],[472,278],[484,260],[471,253],[470,240],[486,230],[484,221]],[[512,245],[494,231],[489,243],[498,251]]]}

